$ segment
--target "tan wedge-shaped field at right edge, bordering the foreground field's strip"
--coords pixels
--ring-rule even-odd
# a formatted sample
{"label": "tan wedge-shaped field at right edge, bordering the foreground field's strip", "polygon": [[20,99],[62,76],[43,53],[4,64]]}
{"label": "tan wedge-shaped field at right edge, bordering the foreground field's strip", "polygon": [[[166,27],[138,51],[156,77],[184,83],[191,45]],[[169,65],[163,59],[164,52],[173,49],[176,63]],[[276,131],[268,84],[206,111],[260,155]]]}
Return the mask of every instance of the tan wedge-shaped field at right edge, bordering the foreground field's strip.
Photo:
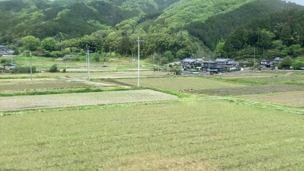
{"label": "tan wedge-shaped field at right edge, bordering the foreground field's strip", "polygon": [[304,107],[304,92],[284,92],[263,95],[239,96],[239,98]]}

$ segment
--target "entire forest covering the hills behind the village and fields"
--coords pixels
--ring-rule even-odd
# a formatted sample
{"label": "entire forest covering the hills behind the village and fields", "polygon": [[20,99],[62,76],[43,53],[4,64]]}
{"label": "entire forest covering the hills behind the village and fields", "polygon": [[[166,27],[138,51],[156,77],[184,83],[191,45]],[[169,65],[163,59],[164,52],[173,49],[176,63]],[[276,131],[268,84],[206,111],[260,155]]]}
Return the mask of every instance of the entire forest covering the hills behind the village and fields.
{"label": "entire forest covering the hills behind the village and fields", "polygon": [[161,63],[208,52],[295,60],[303,10],[282,0],[7,0],[0,1],[0,44],[16,54],[62,57],[89,48],[111,56],[135,54],[140,37],[141,56]]}

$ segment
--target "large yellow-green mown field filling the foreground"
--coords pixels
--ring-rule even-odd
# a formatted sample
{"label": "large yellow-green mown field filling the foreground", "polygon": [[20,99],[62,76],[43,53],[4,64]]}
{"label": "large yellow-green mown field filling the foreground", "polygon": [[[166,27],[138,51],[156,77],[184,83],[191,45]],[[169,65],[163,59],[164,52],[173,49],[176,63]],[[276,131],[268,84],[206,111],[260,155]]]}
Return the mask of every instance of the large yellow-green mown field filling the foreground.
{"label": "large yellow-green mown field filling the foreground", "polygon": [[232,99],[173,101],[0,117],[0,170],[304,168],[303,115]]}

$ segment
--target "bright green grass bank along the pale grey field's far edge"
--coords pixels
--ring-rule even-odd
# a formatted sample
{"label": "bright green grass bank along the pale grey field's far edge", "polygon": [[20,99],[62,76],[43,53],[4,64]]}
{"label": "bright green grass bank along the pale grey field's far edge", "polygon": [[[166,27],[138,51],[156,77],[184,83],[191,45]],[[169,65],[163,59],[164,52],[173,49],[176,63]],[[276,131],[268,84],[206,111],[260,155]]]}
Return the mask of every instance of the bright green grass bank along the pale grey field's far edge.
{"label": "bright green grass bank along the pale grey field's far edge", "polygon": [[49,94],[69,94],[69,93],[85,93],[85,92],[109,92],[109,91],[126,91],[126,90],[143,90],[150,89],[154,91],[164,92],[167,94],[178,96],[179,98],[188,98],[192,97],[192,95],[174,92],[170,90],[158,89],[155,87],[117,87],[113,89],[77,89],[77,90],[62,90],[62,91],[26,91],[26,92],[13,92],[13,93],[0,93],[0,97],[10,97],[10,96],[34,96],[34,95],[49,95]]}

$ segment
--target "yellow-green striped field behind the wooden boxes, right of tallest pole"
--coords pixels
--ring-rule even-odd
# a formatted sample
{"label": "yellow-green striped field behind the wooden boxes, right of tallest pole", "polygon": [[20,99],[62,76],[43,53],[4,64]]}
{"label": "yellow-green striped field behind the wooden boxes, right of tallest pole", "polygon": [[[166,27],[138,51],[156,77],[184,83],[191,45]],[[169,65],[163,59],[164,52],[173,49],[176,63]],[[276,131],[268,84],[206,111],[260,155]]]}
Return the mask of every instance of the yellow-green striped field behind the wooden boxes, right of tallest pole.
{"label": "yellow-green striped field behind the wooden boxes, right of tallest pole", "polygon": [[[116,79],[116,81],[137,85],[137,79]],[[224,87],[243,87],[245,85],[198,77],[166,77],[140,79],[140,86],[157,87],[160,89],[176,91],[177,89],[216,89]]]}

